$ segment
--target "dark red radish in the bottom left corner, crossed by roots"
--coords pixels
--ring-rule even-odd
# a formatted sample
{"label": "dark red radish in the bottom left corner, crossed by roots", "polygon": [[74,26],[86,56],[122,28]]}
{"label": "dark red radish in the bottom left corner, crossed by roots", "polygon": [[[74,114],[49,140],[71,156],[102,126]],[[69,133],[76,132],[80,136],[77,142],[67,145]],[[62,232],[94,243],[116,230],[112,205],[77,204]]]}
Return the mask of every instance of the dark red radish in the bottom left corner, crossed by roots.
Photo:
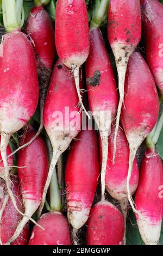
{"label": "dark red radish in the bottom left corner, crossed by roots", "polygon": [[[4,184],[4,181],[1,180],[0,188],[2,189],[3,194],[7,187]],[[20,191],[20,183],[17,176],[12,176],[12,192],[16,200],[16,204],[20,211],[24,212],[23,200]],[[3,199],[1,198],[0,208],[2,210]],[[0,210],[0,211],[1,211]],[[11,199],[8,199],[8,202],[3,210],[2,221],[1,221],[1,242],[2,244],[6,243],[10,237],[14,234],[18,223],[21,220],[21,215],[16,211],[14,205],[12,204]],[[12,243],[12,245],[27,245],[29,239],[29,226],[28,224],[23,228],[20,236]]]}

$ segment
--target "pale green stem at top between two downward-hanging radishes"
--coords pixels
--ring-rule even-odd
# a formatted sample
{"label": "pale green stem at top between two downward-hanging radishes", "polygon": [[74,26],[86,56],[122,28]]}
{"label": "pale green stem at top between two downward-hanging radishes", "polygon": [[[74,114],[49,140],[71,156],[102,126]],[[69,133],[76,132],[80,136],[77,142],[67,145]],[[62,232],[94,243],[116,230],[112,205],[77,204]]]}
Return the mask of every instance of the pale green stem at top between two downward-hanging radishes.
{"label": "pale green stem at top between two downward-hanging radishes", "polygon": [[95,13],[90,25],[90,31],[94,28],[99,28],[103,22],[106,11],[108,10],[109,0],[96,0]]}

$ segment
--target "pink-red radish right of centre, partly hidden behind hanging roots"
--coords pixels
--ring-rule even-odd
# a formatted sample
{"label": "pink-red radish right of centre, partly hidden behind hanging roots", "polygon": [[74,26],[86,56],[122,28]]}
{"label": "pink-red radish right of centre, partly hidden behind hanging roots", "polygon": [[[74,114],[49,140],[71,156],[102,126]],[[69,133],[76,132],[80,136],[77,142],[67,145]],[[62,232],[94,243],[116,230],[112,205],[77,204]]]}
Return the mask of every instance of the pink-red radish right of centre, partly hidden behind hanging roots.
{"label": "pink-red radish right of centre, partly hidden behind hanging roots", "polygon": [[[127,174],[128,174],[128,159],[129,159],[129,147],[126,135],[120,128],[117,134],[117,151],[116,162],[112,164],[112,156],[114,153],[114,132],[115,126],[111,127],[111,134],[109,137],[109,150],[108,150],[108,162],[106,167],[105,183],[106,190],[109,194],[121,203],[121,208],[126,218],[127,215]],[[101,148],[102,158],[102,148]],[[133,171],[130,178],[130,193],[131,195],[136,191],[139,182],[139,168],[137,166],[136,158],[133,162]]]}

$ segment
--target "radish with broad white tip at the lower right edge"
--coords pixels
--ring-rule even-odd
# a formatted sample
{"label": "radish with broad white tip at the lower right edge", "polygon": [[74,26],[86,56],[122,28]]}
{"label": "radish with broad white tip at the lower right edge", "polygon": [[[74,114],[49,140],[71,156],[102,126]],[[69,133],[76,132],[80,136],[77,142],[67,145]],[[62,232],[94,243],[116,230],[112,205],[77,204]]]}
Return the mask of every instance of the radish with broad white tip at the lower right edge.
{"label": "radish with broad white tip at the lower right edge", "polygon": [[163,184],[163,165],[155,149],[148,148],[143,158],[135,205],[141,212],[137,224],[146,245],[157,245],[161,232],[163,199],[159,195]]}

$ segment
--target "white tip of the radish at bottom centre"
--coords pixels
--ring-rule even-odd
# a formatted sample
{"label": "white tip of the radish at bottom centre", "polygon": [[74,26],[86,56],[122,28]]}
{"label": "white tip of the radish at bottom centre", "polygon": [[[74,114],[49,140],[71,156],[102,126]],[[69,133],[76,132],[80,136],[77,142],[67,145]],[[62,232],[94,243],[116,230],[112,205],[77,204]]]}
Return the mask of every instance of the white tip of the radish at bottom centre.
{"label": "white tip of the radish at bottom centre", "polygon": [[77,210],[71,210],[71,208],[68,209],[67,212],[67,218],[72,227],[76,230],[83,227],[83,225],[86,223],[88,217],[90,214],[90,209],[85,208],[80,211]]}

